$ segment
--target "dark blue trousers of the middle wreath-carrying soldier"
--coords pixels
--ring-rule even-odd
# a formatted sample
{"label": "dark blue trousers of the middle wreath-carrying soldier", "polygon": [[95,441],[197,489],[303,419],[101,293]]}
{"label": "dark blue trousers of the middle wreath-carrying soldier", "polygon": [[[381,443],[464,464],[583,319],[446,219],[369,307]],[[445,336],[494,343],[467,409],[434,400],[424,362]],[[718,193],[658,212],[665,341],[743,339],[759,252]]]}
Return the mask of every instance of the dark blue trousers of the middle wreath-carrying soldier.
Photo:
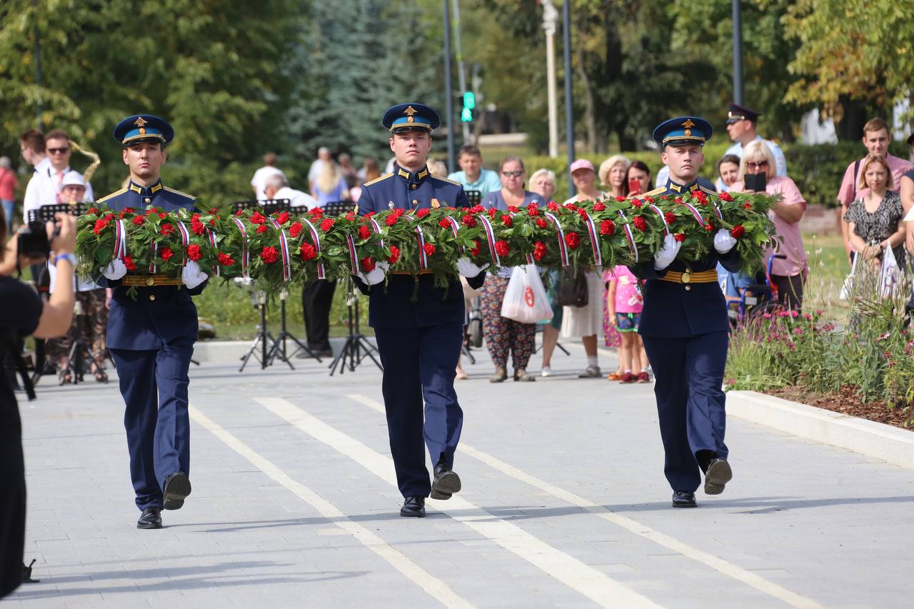
{"label": "dark blue trousers of the middle wreath-carrying soldier", "polygon": [[428,497],[431,483],[423,437],[432,465],[441,454],[452,465],[463,426],[463,411],[454,391],[463,326],[375,328],[375,337],[384,366],[381,387],[397,486],[403,497]]}

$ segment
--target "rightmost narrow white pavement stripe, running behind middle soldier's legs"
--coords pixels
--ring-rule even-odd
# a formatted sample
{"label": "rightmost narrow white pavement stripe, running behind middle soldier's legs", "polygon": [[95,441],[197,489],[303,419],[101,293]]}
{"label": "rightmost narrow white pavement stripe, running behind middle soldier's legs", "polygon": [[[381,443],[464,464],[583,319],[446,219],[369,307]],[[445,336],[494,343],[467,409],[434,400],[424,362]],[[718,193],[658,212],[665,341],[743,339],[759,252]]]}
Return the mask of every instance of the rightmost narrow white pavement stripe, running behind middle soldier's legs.
{"label": "rightmost narrow white pavement stripe, running behind middle soldier's legs", "polygon": [[[374,411],[378,411],[382,414],[384,413],[384,404],[381,404],[376,400],[372,400],[365,395],[351,394],[348,397],[351,400],[357,401]],[[536,488],[548,493],[552,497],[561,499],[562,501],[565,501],[573,506],[586,509],[591,514],[603,518],[604,520],[609,520],[611,523],[622,527],[622,529],[631,531],[635,535],[640,535],[645,539],[652,540],[655,543],[664,546],[664,548],[678,552],[679,554],[685,556],[686,558],[692,559],[693,561],[698,561],[704,565],[707,565],[717,572],[723,573],[724,575],[727,575],[728,577],[731,577],[739,582],[743,582],[755,588],[756,590],[762,593],[766,593],[769,596],[772,596],[786,604],[790,604],[794,607],[803,607],[804,609],[822,607],[821,604],[816,603],[813,601],[813,599],[787,590],[777,583],[769,582],[765,578],[760,577],[758,574],[739,567],[739,565],[725,561],[719,556],[715,556],[714,554],[710,554],[704,550],[698,550],[697,548],[683,543],[680,540],[676,540],[675,538],[661,533],[658,530],[651,529],[647,525],[643,525],[637,520],[633,520],[632,518],[617,514],[605,506],[600,506],[599,504],[596,504],[589,499],[575,495],[574,493],[571,493],[564,488],[549,484],[545,480],[540,480],[536,476],[529,475],[526,472],[517,469],[513,465],[506,464],[504,461],[492,456],[491,454],[476,450],[467,443],[461,442],[458,451],[462,454],[467,454],[468,456],[472,456],[473,458],[482,461],[485,465],[489,465],[493,469],[496,469],[505,475],[509,475],[515,478],[515,480],[520,480],[521,482],[524,482],[530,486],[535,486]]]}

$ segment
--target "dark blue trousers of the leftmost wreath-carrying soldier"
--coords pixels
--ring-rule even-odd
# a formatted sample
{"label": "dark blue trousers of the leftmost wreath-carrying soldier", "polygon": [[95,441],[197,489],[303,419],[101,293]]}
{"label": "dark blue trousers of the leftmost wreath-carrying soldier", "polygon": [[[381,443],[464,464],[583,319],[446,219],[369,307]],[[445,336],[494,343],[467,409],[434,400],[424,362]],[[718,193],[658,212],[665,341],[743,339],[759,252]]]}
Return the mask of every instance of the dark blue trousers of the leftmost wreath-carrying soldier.
{"label": "dark blue trousers of the leftmost wreath-carrying soldier", "polygon": [[161,349],[111,349],[126,404],[130,477],[136,507],[162,507],[165,477],[190,475],[190,418],[187,413],[187,370],[192,345]]}

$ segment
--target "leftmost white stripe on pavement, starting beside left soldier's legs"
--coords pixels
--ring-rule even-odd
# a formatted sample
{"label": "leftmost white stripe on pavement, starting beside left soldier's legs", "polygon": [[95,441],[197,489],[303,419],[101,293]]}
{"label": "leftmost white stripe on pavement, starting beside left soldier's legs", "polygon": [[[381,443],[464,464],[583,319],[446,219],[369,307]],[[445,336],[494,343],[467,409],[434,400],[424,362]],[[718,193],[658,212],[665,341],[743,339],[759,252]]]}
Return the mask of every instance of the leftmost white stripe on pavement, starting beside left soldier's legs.
{"label": "leftmost white stripe on pavement, starting beside left soldier's legs", "polygon": [[377,535],[370,530],[350,520],[332,503],[324,499],[324,497],[314,493],[314,491],[307,486],[303,486],[299,482],[293,480],[279,467],[273,465],[270,461],[256,453],[247,444],[242,443],[235,435],[220,427],[217,422],[214,422],[203,412],[197,410],[196,407],[191,406],[189,411],[190,418],[193,419],[194,422],[197,422],[197,424],[206,429],[209,433],[215,435],[233,451],[250,461],[250,463],[260,469],[261,472],[292,491],[292,493],[301,498],[305,503],[316,509],[321,516],[333,522],[340,529],[345,530],[345,532],[352,535],[356,540],[359,540],[368,550],[372,550],[382,559],[388,561],[394,569],[405,575],[411,582],[416,583],[422,590],[429,593],[432,598],[446,607],[457,607],[460,609],[473,607],[473,604],[470,604],[459,594],[455,593],[447,583],[442,582],[437,577],[434,577],[429,572],[423,570],[419,565],[409,560],[409,558],[399,550],[395,550],[389,546],[384,540],[377,537]]}

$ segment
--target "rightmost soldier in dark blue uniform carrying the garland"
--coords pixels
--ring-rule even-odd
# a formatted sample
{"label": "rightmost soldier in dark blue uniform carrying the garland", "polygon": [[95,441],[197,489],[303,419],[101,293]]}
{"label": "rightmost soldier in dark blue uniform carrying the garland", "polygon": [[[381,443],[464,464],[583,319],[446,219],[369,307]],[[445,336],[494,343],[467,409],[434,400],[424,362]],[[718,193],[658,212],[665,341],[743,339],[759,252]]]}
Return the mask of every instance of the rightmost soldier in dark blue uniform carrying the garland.
{"label": "rightmost soldier in dark blue uniform carrying the garland", "polygon": [[[705,162],[702,146],[713,130],[707,121],[689,116],[670,119],[654,129],[670,167],[667,184],[648,193],[676,197],[695,192]],[[724,443],[727,414],[721,387],[727,363],[728,318],[717,283],[717,262],[739,270],[736,240],[718,230],[714,250],[697,262],[676,260],[680,243],[672,235],[654,260],[640,270],[644,309],[639,332],[654,368],[660,434],[664,441],[664,473],[673,487],[674,508],[694,508],[695,491],[705,472],[705,493],[718,495],[732,478]]]}

